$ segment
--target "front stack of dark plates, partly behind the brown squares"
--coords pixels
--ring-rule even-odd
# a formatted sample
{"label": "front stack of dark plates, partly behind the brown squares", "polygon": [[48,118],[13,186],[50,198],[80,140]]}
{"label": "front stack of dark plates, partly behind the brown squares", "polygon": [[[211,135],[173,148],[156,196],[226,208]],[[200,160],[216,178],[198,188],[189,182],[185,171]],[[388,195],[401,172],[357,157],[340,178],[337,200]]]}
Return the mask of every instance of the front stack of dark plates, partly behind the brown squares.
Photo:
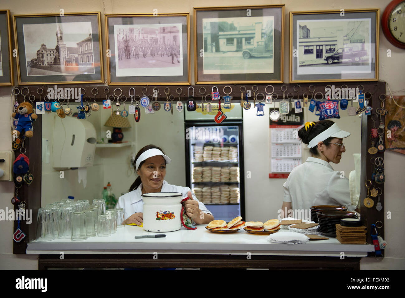
{"label": "front stack of dark plates, partly behind the brown squares", "polygon": [[340,224],[342,218],[357,218],[356,212],[347,210],[318,211],[319,232],[326,236],[336,237],[336,224]]}

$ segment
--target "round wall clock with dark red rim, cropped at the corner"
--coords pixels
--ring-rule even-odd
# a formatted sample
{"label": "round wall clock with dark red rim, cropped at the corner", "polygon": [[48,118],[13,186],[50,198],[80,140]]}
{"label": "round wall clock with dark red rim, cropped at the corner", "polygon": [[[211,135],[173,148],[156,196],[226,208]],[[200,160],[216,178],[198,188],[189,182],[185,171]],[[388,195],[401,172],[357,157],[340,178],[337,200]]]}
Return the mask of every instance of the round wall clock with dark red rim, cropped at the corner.
{"label": "round wall clock with dark red rim, cropped at the corner", "polygon": [[381,19],[382,31],[394,46],[405,49],[405,0],[393,0]]}

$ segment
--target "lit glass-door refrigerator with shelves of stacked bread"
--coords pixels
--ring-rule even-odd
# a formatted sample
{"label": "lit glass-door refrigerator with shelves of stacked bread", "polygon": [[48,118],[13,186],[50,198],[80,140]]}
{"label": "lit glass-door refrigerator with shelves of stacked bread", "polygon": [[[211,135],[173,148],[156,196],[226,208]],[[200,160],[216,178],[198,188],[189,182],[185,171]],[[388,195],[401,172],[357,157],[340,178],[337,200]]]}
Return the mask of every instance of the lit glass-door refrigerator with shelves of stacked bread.
{"label": "lit glass-door refrigerator with shelves of stacked bread", "polygon": [[186,183],[215,219],[229,222],[245,219],[243,124],[239,104],[222,111],[227,119],[220,124],[215,106],[213,115],[185,111]]}

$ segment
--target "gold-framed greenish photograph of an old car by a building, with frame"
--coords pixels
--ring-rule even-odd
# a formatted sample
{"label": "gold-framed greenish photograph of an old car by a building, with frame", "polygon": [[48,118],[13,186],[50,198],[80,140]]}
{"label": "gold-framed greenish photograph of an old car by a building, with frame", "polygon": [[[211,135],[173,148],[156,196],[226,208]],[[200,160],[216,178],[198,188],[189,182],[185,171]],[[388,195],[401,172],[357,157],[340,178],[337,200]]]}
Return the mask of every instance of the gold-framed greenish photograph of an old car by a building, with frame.
{"label": "gold-framed greenish photograph of an old car by a building, with frame", "polygon": [[194,8],[196,84],[282,83],[284,4]]}

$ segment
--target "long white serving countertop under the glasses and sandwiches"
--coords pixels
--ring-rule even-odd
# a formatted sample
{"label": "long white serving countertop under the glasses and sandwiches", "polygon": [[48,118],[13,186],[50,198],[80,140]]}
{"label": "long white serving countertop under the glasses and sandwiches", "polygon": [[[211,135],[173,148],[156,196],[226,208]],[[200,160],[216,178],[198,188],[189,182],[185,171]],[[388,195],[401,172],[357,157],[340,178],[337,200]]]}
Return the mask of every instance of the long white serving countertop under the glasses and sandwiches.
{"label": "long white serving countertop under the glasses and sandwiches", "polygon": [[[91,237],[83,241],[55,239],[47,242],[31,241],[27,254],[235,254],[247,255],[307,255],[365,257],[374,251],[372,244],[341,244],[336,238],[309,240],[305,244],[270,243],[268,235],[250,234],[243,229],[231,234],[218,234],[197,225],[196,230],[181,227],[175,232],[153,233],[142,227],[126,225],[107,237]],[[288,231],[283,230],[281,231]],[[166,234],[164,238],[135,239],[134,236]],[[311,234],[310,231],[308,234]]]}

